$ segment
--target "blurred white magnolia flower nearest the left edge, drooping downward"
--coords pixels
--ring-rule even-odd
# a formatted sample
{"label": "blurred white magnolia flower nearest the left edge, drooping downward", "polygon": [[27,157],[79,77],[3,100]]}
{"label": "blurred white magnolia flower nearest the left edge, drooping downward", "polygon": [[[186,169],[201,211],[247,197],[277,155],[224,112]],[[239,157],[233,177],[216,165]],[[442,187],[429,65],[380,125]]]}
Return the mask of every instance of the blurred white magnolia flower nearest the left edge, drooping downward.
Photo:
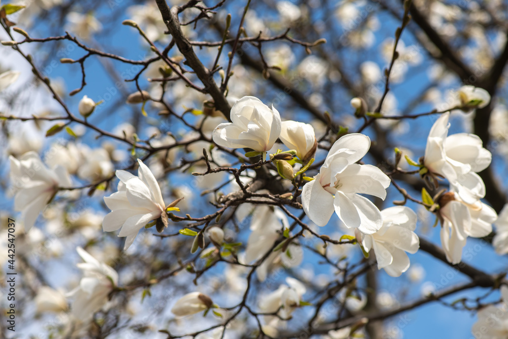
{"label": "blurred white magnolia flower nearest the left edge, drooping downward", "polygon": [[58,189],[71,187],[71,179],[61,166],[54,170],[47,168],[33,151],[25,153],[19,160],[13,156],[9,159],[11,181],[16,191],[14,210],[21,212],[25,231],[28,231]]}

